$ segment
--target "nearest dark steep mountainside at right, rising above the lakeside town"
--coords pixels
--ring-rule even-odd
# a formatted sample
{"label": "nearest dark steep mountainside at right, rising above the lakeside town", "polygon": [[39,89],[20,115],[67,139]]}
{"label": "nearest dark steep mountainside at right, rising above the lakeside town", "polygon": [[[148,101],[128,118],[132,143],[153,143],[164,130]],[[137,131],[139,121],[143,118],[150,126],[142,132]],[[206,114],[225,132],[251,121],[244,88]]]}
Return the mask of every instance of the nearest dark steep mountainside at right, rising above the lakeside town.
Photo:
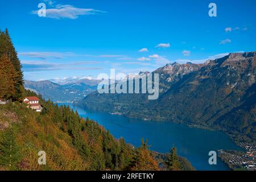
{"label": "nearest dark steep mountainside at right, rising above the lakeside town", "polygon": [[210,61],[172,85],[155,109],[160,117],[255,139],[255,57],[234,53]]}

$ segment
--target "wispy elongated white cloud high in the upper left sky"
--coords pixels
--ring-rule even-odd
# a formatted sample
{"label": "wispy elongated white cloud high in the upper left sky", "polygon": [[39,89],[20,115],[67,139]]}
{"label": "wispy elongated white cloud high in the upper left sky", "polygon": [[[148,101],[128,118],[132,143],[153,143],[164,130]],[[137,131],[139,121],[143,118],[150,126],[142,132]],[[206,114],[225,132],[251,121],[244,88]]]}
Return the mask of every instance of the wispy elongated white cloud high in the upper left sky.
{"label": "wispy elongated white cloud high in the upper left sky", "polygon": [[[82,9],[72,5],[56,5],[55,8],[46,9],[46,18],[69,18],[77,19],[80,15],[94,15],[97,13],[105,13],[105,11],[95,9]],[[32,14],[38,14],[38,10],[32,11]]]}

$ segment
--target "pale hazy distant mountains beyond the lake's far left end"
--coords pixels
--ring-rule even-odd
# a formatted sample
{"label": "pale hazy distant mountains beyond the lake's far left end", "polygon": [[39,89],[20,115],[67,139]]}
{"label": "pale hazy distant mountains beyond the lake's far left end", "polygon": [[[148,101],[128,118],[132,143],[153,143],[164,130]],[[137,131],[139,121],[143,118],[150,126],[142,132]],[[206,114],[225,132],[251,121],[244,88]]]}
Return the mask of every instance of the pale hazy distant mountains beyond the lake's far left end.
{"label": "pale hazy distant mountains beyond the lake's far left end", "polygon": [[72,80],[66,84],[56,84],[55,82],[46,81],[28,81],[25,80],[25,88],[30,89],[38,94],[42,94],[47,100],[53,102],[73,102],[81,100],[87,94],[97,90],[97,80]]}

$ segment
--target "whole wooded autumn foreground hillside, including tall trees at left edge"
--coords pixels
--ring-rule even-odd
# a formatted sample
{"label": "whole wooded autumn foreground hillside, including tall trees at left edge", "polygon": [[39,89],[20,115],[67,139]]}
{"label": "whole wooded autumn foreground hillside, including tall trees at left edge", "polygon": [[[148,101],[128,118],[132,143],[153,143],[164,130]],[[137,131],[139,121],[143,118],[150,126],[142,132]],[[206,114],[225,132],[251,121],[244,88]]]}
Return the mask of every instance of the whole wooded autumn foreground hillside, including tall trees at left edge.
{"label": "whole wooded autumn foreground hillside, including tall trees at left edge", "polygon": [[[159,168],[143,139],[141,147],[134,148],[69,107],[24,90],[20,61],[7,30],[0,40],[0,99],[7,101],[0,105],[0,170],[193,169],[175,149]],[[41,113],[22,102],[27,96],[40,98]],[[46,152],[46,165],[38,164],[39,151]]]}

